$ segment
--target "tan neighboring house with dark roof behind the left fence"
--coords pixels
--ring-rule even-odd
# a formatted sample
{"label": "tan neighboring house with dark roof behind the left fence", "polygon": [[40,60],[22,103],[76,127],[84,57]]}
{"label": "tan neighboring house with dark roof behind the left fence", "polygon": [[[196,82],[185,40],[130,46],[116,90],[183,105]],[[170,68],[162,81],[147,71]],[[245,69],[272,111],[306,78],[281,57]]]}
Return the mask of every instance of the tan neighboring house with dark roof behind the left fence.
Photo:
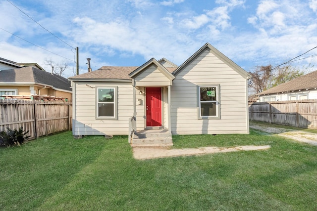
{"label": "tan neighboring house with dark roof behind the left fence", "polygon": [[0,96],[2,95],[49,95],[71,101],[72,89],[67,79],[30,66],[0,70]]}

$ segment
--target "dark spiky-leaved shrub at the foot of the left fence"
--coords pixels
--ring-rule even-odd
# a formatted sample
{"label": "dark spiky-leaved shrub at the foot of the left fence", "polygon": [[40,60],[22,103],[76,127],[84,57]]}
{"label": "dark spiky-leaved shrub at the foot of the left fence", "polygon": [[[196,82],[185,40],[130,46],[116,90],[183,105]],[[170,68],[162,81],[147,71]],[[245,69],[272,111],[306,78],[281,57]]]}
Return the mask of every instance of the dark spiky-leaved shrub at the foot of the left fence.
{"label": "dark spiky-leaved shrub at the foot of the left fence", "polygon": [[23,142],[25,142],[28,139],[28,137],[30,137],[25,136],[29,132],[29,130],[25,132],[23,130],[23,127],[20,127],[18,130],[10,129],[9,127],[7,127],[6,129],[7,131],[3,130],[0,132],[0,145],[20,146]]}

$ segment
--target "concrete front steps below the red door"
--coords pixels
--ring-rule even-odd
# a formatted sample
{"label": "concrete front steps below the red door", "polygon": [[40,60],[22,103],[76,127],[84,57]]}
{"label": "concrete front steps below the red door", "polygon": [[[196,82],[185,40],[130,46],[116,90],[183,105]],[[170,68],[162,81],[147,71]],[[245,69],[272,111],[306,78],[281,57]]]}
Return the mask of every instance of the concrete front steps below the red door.
{"label": "concrete front steps below the red door", "polygon": [[145,129],[137,131],[132,139],[132,147],[173,146],[172,134],[166,129]]}

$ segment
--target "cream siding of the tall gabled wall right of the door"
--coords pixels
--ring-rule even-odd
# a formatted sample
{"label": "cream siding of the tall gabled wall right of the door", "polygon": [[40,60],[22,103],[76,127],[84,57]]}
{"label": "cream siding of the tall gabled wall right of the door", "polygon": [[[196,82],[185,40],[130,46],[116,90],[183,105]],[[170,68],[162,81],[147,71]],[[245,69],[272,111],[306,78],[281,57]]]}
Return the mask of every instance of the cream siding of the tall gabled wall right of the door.
{"label": "cream siding of the tall gabled wall right of the door", "polygon": [[[171,87],[172,134],[248,133],[246,79],[204,51],[174,79]],[[220,85],[220,119],[198,119],[197,85]]]}

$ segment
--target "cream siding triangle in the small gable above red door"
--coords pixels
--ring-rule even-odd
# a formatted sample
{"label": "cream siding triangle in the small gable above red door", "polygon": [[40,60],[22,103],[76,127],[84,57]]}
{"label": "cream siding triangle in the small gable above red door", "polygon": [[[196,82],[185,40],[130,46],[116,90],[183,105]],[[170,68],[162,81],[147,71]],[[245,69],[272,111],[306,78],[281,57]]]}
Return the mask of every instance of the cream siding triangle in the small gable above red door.
{"label": "cream siding triangle in the small gable above red door", "polygon": [[166,86],[170,84],[170,80],[158,70],[156,65],[151,65],[134,80],[136,86]]}

